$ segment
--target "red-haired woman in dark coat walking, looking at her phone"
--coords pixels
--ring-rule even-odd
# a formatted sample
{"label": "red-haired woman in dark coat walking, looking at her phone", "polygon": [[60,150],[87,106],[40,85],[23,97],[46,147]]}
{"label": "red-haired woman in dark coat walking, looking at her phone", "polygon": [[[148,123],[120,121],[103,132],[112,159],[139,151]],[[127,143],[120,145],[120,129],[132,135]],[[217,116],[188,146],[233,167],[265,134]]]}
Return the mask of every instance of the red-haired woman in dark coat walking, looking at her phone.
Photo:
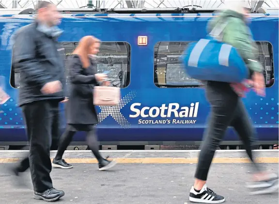
{"label": "red-haired woman in dark coat walking, looking at her phone", "polygon": [[105,74],[96,74],[93,61],[89,55],[99,52],[100,41],[93,36],[83,37],[78,47],[72,53],[72,63],[70,65],[70,94],[66,102],[67,126],[62,134],[56,157],[52,166],[62,169],[73,168],[71,164],[62,159],[63,153],[73,139],[77,131],[87,132],[87,143],[94,156],[99,162],[99,170],[104,171],[113,167],[116,162],[108,161],[99,152],[96,130],[93,127],[98,123],[97,114],[93,105],[93,87],[109,85]]}

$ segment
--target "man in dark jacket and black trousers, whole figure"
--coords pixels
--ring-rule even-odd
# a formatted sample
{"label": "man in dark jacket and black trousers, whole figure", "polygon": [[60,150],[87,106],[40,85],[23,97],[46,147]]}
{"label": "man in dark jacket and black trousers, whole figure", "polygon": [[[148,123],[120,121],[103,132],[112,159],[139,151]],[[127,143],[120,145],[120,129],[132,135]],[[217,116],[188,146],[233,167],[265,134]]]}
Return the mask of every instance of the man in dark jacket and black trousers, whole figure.
{"label": "man in dark jacket and black trousers, whole figure", "polygon": [[53,188],[50,178],[50,147],[59,137],[59,103],[64,99],[64,64],[59,55],[56,27],[60,14],[55,5],[41,1],[35,21],[15,36],[15,68],[20,74],[19,106],[22,108],[30,142],[29,158],[14,169],[18,175],[29,168],[34,199],[48,202],[64,196]]}

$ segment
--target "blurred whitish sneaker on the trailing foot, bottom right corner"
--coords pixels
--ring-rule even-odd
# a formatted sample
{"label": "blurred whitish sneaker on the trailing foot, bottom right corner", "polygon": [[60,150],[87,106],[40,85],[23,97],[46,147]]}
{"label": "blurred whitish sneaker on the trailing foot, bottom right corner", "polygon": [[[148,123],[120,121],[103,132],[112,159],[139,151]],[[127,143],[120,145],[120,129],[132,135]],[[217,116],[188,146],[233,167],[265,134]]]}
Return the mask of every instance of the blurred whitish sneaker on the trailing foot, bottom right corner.
{"label": "blurred whitish sneaker on the trailing foot, bottom right corner", "polygon": [[279,189],[279,179],[278,175],[275,173],[269,174],[269,178],[263,181],[250,182],[247,183],[247,188],[249,188],[251,195],[269,194],[278,192]]}

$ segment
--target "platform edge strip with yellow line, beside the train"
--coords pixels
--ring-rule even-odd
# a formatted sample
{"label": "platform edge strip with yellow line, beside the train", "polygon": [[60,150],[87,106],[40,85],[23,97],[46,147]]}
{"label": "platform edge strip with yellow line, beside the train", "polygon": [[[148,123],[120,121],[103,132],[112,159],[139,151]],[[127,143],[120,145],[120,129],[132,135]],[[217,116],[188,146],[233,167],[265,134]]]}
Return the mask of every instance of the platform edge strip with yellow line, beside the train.
{"label": "platform edge strip with yellow line, beside the train", "polygon": [[[192,164],[198,162],[199,150],[151,150],[151,151],[101,151],[104,157],[109,156],[118,163],[172,163]],[[56,151],[51,151],[50,157],[55,157]],[[0,151],[0,163],[16,162],[28,156],[28,151]],[[256,150],[254,157],[259,163],[278,163],[278,150]],[[66,151],[63,155],[68,163],[97,163],[91,151]],[[249,163],[243,150],[218,150],[213,163]]]}

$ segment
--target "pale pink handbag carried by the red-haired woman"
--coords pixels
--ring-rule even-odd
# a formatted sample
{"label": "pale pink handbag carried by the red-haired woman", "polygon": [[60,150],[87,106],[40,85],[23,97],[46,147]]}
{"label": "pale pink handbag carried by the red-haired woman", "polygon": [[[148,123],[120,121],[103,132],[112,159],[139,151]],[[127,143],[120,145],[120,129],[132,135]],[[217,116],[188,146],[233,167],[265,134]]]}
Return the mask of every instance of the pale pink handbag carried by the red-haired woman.
{"label": "pale pink handbag carried by the red-haired woman", "polygon": [[119,87],[95,86],[93,90],[93,104],[96,106],[116,106],[120,97]]}

